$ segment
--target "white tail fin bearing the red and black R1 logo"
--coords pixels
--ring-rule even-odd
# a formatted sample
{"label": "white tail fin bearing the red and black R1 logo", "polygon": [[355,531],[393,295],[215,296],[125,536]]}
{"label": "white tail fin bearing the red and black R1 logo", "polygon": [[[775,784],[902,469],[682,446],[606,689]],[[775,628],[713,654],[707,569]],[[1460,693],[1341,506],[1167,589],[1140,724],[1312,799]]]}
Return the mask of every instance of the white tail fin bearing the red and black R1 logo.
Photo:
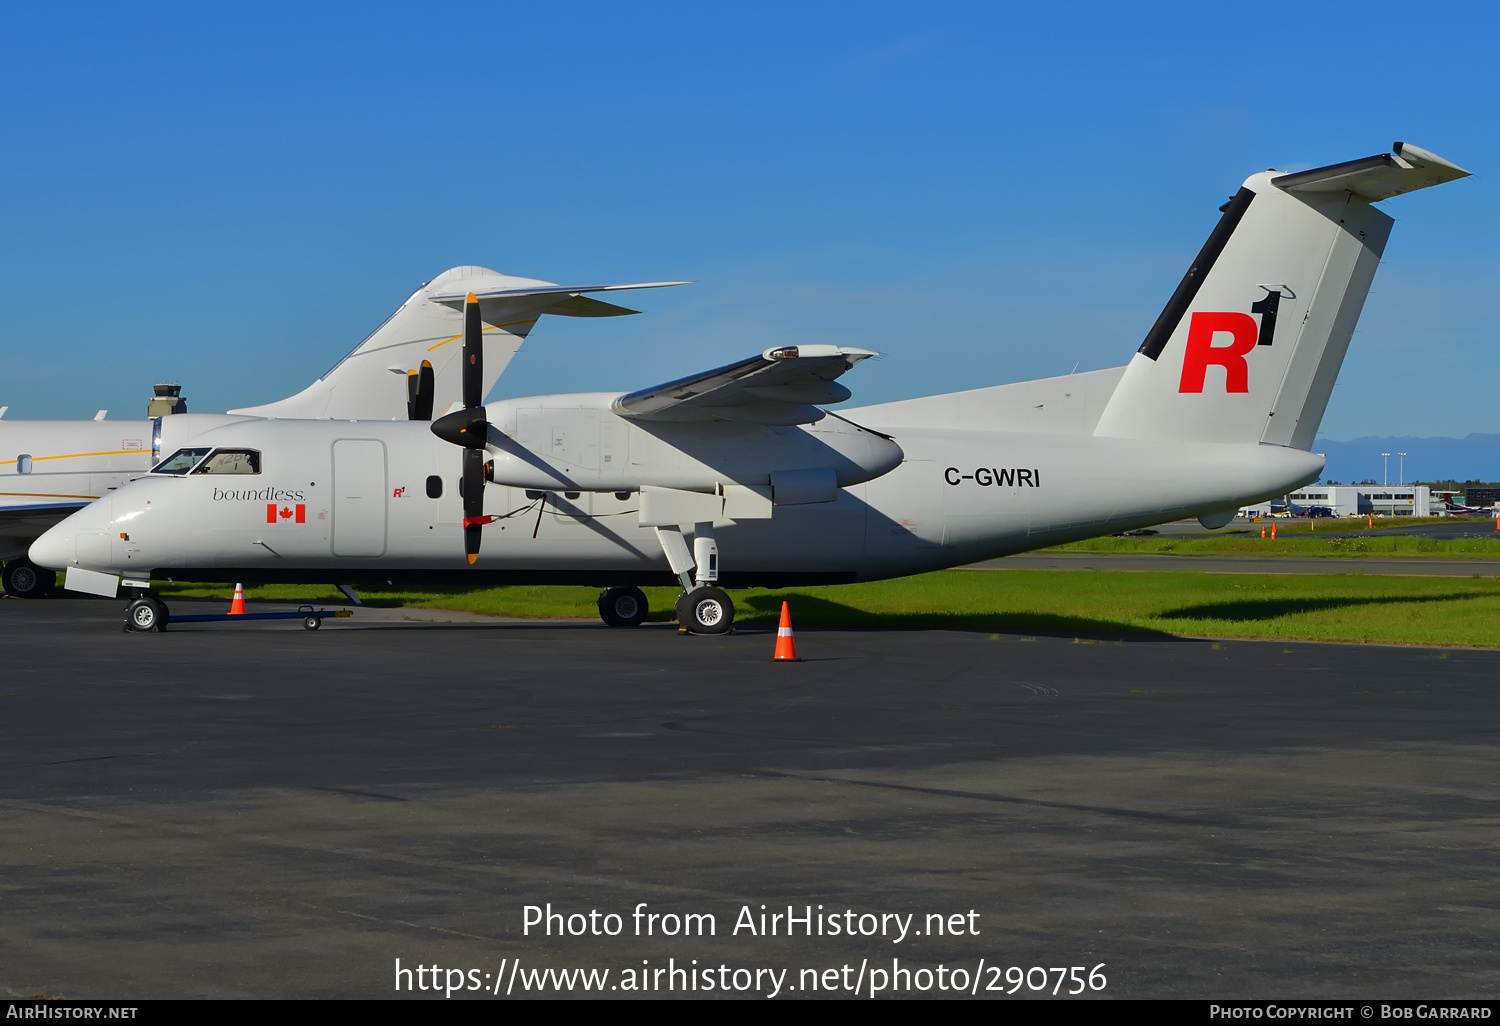
{"label": "white tail fin bearing the red and black R1 logo", "polygon": [[1311,448],[1394,224],[1371,204],[1467,176],[1396,142],[1246,178],[1095,434]]}

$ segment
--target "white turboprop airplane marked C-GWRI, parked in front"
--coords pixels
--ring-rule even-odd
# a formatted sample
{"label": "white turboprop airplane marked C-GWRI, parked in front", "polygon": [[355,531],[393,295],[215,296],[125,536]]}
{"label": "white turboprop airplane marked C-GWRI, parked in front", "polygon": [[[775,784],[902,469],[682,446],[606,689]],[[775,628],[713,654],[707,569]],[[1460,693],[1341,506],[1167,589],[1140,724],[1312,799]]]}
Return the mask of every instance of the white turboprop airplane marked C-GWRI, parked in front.
{"label": "white turboprop airplane marked C-GWRI, parked in front", "polygon": [[[1372,204],[1466,177],[1425,150],[1251,176],[1128,366],[832,414],[866,350],[802,345],[630,393],[426,424],[225,422],[32,546],[68,586],[176,580],[592,584],[609,624],[680,580],[897,578],[1197,516],[1316,480],[1308,452],[1394,224]],[[686,536],[692,536],[692,546]],[[720,552],[723,567],[720,567]],[[696,568],[696,573],[693,573]],[[130,630],[160,630],[144,594]]]}

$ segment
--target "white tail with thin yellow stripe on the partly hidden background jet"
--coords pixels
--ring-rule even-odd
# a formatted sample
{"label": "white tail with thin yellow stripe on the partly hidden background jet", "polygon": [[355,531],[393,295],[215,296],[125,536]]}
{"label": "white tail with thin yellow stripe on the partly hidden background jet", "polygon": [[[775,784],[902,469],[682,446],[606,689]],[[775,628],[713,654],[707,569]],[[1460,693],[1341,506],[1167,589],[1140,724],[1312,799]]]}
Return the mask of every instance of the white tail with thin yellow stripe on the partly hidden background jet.
{"label": "white tail with thin yellow stripe on the partly hidden background jet", "polygon": [[[462,393],[464,300],[478,296],[484,321],[484,392],[495,387],[510,358],[543,314],[620,316],[638,310],[588,298],[580,292],[656,288],[639,285],[554,285],[513,278],[488,267],[453,267],[418,288],[386,322],[297,394],[264,406],[231,410],[252,417],[332,417],[334,420],[404,420],[416,412],[442,412]],[[430,376],[424,364],[430,366]],[[408,378],[417,372],[417,392]],[[429,386],[430,381],[430,386]]]}

